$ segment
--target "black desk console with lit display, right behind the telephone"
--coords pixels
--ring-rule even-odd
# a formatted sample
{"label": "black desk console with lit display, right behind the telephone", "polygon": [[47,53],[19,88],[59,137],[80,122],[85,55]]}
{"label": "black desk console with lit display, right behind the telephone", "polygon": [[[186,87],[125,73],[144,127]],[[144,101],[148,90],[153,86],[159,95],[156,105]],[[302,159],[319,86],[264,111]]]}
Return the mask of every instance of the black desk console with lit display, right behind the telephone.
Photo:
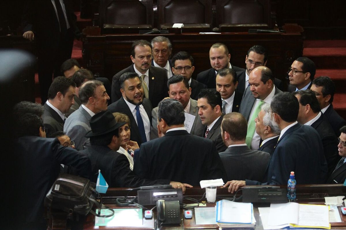
{"label": "black desk console with lit display, right behind the telephone", "polygon": [[155,205],[158,200],[183,202],[181,189],[151,189],[138,190],[138,202],[141,205]]}

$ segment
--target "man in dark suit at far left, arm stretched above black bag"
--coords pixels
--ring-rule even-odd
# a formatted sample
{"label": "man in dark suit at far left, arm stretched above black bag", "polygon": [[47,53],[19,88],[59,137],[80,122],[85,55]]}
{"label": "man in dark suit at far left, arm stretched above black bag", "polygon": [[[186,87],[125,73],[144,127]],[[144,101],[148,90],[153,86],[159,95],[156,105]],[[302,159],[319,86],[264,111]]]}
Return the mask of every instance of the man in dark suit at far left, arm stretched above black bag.
{"label": "man in dark suit at far left, arm stretched above black bag", "polygon": [[[56,138],[45,138],[43,120],[36,114],[26,113],[15,124],[13,144],[17,159],[16,178],[20,212],[17,212],[15,229],[47,229],[44,219],[44,198],[60,173],[60,164],[73,166],[77,175],[89,178],[90,160],[78,151],[60,145]],[[25,192],[22,192],[25,191]],[[18,192],[19,193],[19,192]]]}

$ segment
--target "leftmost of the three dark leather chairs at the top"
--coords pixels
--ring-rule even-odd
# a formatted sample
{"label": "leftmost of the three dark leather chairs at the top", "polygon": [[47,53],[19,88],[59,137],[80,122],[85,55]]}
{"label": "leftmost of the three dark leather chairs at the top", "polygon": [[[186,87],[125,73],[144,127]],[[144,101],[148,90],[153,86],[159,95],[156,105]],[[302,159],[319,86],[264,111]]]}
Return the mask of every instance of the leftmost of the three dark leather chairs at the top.
{"label": "leftmost of the three dark leather chairs at the top", "polygon": [[153,28],[153,0],[100,0],[101,33],[138,33]]}

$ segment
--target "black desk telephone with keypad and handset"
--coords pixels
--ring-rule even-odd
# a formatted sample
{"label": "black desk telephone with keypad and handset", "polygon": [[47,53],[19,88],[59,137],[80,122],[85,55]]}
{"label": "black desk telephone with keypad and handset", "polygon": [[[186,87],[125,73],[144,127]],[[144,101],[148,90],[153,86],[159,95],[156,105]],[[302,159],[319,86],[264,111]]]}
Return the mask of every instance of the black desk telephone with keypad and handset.
{"label": "black desk telephone with keypad and handset", "polygon": [[179,201],[156,201],[157,222],[160,224],[180,224]]}

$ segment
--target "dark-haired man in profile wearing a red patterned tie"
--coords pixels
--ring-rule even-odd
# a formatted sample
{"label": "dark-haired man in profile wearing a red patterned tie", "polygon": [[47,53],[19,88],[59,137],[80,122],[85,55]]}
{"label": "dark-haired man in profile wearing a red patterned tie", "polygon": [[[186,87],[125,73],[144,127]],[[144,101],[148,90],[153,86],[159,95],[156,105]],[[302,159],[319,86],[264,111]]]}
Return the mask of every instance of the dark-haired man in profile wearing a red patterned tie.
{"label": "dark-haired man in profile wearing a red patterned tie", "polygon": [[227,147],[221,137],[222,100],[218,91],[213,89],[202,89],[198,94],[198,115],[204,128],[202,137],[213,140],[218,152],[224,152]]}

